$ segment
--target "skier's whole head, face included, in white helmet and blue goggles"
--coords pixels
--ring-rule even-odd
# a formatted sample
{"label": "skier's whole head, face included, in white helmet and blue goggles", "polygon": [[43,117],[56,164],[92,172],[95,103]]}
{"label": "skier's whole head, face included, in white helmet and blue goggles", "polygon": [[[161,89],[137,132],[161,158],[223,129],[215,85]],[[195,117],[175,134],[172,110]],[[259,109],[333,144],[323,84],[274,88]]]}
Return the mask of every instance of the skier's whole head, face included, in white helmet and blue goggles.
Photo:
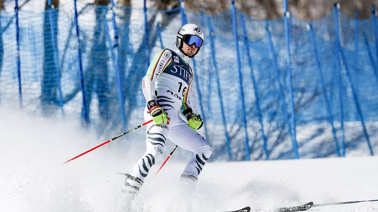
{"label": "skier's whole head, face included, in white helmet and blue goggles", "polygon": [[176,46],[188,56],[194,57],[200,51],[203,43],[203,31],[195,24],[188,23],[180,28],[176,35]]}

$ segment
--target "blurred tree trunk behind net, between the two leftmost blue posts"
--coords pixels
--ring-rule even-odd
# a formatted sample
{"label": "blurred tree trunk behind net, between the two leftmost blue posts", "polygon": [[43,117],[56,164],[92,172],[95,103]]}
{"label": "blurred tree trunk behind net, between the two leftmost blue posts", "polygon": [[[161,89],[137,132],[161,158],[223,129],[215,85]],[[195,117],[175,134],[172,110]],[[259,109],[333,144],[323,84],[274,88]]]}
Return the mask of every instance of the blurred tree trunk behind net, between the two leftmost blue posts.
{"label": "blurred tree trunk behind net, between the two leftmost blue posts", "polygon": [[[42,94],[41,105],[42,114],[54,114],[58,104],[58,81],[60,71],[58,53],[58,12],[54,10],[59,6],[59,0],[52,0],[51,8],[48,7],[46,0],[45,12],[43,16],[43,78],[42,78]],[[52,33],[53,32],[53,33]],[[57,57],[57,58],[55,58]]]}

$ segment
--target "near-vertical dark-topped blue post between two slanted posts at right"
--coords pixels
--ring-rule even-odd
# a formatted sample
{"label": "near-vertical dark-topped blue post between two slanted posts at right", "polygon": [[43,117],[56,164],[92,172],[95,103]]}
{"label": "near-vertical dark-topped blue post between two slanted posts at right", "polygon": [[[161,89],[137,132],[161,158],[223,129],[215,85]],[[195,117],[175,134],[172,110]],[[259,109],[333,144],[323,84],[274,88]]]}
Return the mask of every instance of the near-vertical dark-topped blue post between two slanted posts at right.
{"label": "near-vertical dark-topped blue post between two slanted posts at right", "polygon": [[[340,64],[340,44],[339,44],[339,3],[335,3],[335,6],[333,7],[333,11],[335,13],[335,62],[336,62],[336,68],[339,75],[339,105],[340,105],[340,130],[341,130],[341,147],[343,149],[343,152],[345,151],[345,137],[344,137],[344,109],[343,109],[343,102],[342,102],[342,78],[341,78],[341,64]],[[339,148],[336,148],[336,151],[338,151]],[[337,153],[340,155],[340,152]]]}

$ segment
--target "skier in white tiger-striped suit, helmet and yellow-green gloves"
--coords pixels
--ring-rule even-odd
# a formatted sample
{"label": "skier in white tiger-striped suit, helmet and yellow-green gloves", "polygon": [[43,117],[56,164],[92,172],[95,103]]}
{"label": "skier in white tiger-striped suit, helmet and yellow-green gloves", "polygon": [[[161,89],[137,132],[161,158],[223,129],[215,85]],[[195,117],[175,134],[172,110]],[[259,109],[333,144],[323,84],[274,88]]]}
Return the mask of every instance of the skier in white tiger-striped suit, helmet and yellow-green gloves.
{"label": "skier in white tiger-striped suit, helmet and yellow-green gloves", "polygon": [[[198,132],[203,125],[201,116],[190,106],[193,71],[188,64],[203,43],[203,31],[195,24],[186,24],[176,36],[175,51],[161,50],[150,64],[143,77],[142,89],[147,105],[144,120],[147,124],[147,150],[138,160],[130,174],[125,174],[125,189],[133,196],[137,194],[144,178],[155,161],[163,157],[166,140],[194,152],[191,161],[181,174],[183,186],[194,190],[198,175],[212,154],[212,147]],[[186,117],[187,123],[180,117]]]}

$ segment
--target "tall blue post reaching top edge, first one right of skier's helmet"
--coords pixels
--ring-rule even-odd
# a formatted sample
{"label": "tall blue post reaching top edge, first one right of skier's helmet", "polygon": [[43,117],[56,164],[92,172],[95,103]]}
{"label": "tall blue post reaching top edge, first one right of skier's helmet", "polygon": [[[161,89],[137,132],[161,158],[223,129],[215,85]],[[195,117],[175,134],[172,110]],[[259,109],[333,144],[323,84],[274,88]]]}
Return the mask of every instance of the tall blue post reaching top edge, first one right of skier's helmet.
{"label": "tall blue post reaching top edge, first one right of skier's helmet", "polygon": [[232,11],[232,27],[234,29],[234,38],[235,38],[235,49],[236,49],[236,60],[237,60],[237,69],[239,74],[239,90],[240,98],[242,100],[242,123],[245,130],[245,150],[246,150],[246,159],[250,159],[249,153],[249,142],[248,142],[248,131],[247,131],[247,120],[245,112],[245,100],[244,100],[244,91],[243,91],[243,78],[242,78],[242,63],[240,61],[240,52],[239,52],[239,39],[237,34],[237,20],[236,20],[236,9],[235,9],[235,0],[231,0],[231,11]]}

